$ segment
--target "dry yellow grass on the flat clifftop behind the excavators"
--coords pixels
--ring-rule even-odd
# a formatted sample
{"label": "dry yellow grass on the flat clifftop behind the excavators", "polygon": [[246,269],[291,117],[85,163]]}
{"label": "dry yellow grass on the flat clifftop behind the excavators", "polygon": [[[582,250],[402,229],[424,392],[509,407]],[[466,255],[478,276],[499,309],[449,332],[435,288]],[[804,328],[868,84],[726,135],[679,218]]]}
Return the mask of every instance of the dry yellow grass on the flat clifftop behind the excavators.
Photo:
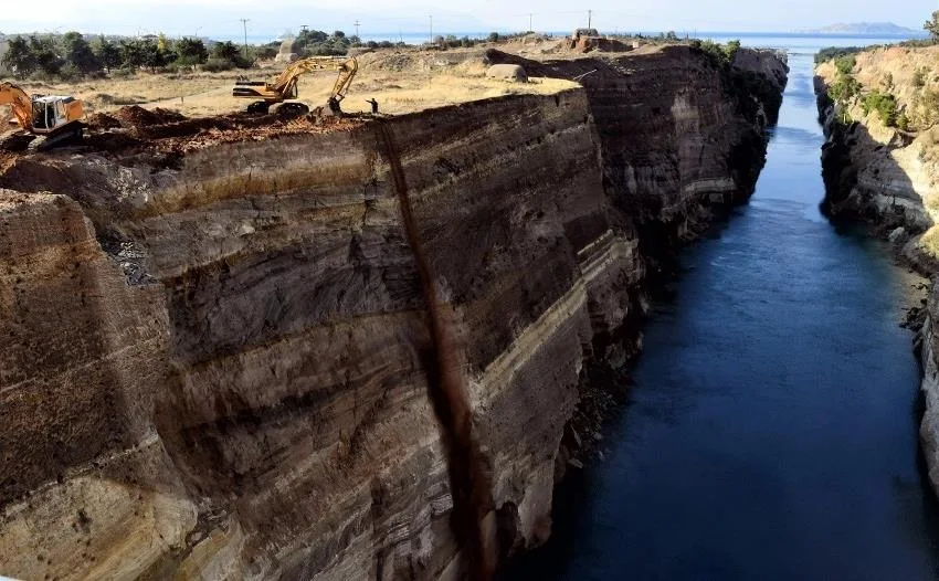
{"label": "dry yellow grass on the flat clifftop behind the excavators", "polygon": [[[511,94],[553,94],[578,86],[568,81],[532,78],[509,83],[485,77],[482,51],[379,51],[359,57],[359,74],[349,88],[342,109],[369,112],[368,98],[379,102],[381,113],[404,114]],[[256,80],[270,80],[277,70],[251,71]],[[75,95],[85,101],[86,113],[108,112],[124,105],[175,109],[190,117],[243,109],[250,101],[231,96],[234,80],[243,72],[146,74],[128,78],[95,80],[74,84],[25,83],[32,93]],[[324,105],[336,77],[334,72],[308,74],[299,82],[299,101]]]}

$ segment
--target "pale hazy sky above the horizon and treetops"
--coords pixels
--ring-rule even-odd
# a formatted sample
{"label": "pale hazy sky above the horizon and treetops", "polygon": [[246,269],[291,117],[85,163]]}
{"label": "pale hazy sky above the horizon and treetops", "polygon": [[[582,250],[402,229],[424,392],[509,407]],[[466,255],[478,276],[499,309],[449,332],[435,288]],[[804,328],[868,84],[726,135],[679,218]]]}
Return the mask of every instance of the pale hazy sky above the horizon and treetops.
{"label": "pale hazy sky above the horizon and treetops", "polygon": [[[236,38],[246,23],[250,40],[275,40],[302,25],[363,38],[402,32],[568,31],[592,24],[602,32],[735,31],[791,32],[836,22],[891,21],[920,29],[939,0],[462,0],[442,8],[426,0],[41,0],[4,2],[0,32],[65,32]],[[579,7],[584,7],[580,9]]]}

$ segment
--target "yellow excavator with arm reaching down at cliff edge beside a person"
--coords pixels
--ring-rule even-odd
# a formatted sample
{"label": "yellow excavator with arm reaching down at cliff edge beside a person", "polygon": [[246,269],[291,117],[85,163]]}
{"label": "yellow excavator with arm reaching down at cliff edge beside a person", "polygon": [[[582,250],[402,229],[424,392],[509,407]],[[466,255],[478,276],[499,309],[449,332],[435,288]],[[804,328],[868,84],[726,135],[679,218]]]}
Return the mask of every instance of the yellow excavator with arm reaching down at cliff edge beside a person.
{"label": "yellow excavator with arm reaching down at cliff edge beside a person", "polygon": [[359,71],[359,62],[356,61],[355,56],[350,56],[349,59],[336,59],[333,56],[310,56],[309,59],[303,59],[287,66],[272,83],[249,81],[245,77],[239,77],[232,89],[232,96],[255,99],[254,103],[247,106],[249,113],[268,113],[273,105],[278,105],[277,112],[282,115],[303,115],[309,113],[309,107],[303,103],[296,101],[288,102],[287,99],[297,98],[297,80],[300,75],[315,71],[339,71],[326,106],[335,114],[341,113],[339,102],[345,98],[352,78],[355,78],[356,73]]}

